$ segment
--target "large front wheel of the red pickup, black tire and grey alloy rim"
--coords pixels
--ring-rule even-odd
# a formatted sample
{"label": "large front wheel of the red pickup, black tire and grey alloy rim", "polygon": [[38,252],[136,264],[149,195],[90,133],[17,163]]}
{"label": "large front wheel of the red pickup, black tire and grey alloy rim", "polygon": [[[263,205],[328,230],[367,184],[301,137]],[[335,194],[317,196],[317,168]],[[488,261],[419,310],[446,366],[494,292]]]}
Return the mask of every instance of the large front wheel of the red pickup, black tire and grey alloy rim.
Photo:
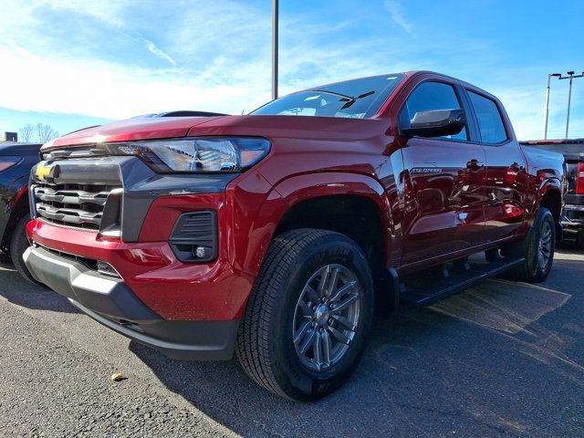
{"label": "large front wheel of the red pickup, black tire and grey alloy rim", "polygon": [[[318,302],[314,294],[329,295],[330,301]],[[279,235],[255,280],[239,327],[237,358],[268,391],[298,401],[323,397],[357,365],[370,332],[373,297],[370,266],[349,237],[308,228]],[[339,317],[345,318],[342,324]]]}

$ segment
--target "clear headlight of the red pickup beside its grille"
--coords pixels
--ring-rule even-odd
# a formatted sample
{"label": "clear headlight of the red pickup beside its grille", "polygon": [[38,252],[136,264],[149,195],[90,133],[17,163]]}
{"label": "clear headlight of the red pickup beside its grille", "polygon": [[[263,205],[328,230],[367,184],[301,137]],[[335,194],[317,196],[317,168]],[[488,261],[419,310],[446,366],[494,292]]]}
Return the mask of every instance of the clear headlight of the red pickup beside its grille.
{"label": "clear headlight of the red pickup beside its grille", "polygon": [[254,137],[199,137],[107,145],[112,155],[137,155],[156,172],[242,172],[264,158],[270,142]]}

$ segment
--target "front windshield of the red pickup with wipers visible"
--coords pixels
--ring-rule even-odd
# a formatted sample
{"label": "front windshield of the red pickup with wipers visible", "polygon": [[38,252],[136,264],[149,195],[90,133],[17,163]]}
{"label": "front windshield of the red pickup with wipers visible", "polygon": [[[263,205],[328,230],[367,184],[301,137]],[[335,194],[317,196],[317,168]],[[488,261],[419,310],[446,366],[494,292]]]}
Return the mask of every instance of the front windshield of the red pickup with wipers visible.
{"label": "front windshield of the red pickup with wipers visible", "polygon": [[402,79],[402,74],[383,75],[323,85],[272,100],[251,114],[370,118]]}

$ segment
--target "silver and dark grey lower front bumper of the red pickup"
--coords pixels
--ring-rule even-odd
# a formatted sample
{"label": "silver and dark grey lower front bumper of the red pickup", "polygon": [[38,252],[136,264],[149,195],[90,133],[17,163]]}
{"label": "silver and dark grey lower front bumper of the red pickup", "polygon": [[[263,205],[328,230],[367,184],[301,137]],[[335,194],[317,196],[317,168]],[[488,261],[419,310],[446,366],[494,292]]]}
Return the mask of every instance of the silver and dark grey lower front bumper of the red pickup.
{"label": "silver and dark grey lower front bumper of the red pickup", "polygon": [[83,263],[31,246],[25,263],[46,284],[104,326],[174,359],[229,360],[239,319],[169,320],[154,313],[119,278],[101,275]]}

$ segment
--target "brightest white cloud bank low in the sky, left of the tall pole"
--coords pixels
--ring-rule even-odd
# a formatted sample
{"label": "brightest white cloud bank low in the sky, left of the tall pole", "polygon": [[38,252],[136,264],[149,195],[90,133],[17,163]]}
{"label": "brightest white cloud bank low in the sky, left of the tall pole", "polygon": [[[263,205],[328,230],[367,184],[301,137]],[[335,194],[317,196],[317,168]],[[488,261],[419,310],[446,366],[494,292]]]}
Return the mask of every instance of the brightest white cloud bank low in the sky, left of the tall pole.
{"label": "brightest white cloud bank low in the sky, left of the tall pole", "polygon": [[183,109],[239,113],[259,106],[268,93],[245,86],[207,86],[204,80],[183,78],[173,70],[121,68],[102,61],[62,62],[22,48],[0,48],[0,58],[12,66],[0,70],[2,105],[14,110],[112,119]]}

